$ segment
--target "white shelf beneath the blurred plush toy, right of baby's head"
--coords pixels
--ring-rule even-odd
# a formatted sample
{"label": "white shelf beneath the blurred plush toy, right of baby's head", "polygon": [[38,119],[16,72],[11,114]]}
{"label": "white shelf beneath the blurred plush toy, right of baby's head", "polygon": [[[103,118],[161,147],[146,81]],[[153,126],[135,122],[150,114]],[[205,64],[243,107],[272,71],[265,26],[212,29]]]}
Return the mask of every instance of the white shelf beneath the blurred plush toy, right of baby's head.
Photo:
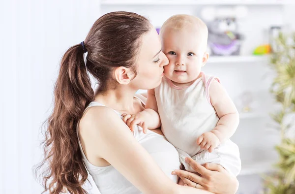
{"label": "white shelf beneath the blurred plush toy, right of baby's head", "polygon": [[269,56],[212,56],[207,63],[266,63],[268,61]]}

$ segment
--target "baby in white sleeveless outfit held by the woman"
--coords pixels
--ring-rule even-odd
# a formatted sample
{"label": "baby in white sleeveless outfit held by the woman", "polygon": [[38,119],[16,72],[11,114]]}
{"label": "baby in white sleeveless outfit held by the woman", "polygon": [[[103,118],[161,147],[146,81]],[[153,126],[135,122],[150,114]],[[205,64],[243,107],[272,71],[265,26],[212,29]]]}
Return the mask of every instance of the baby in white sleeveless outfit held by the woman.
{"label": "baby in white sleeveless outfit held by the woman", "polygon": [[139,125],[144,132],[159,121],[185,170],[195,172],[184,160],[191,157],[200,164],[218,163],[236,176],[241,169],[239,150],[229,138],[239,116],[219,79],[201,71],[209,57],[207,36],[207,26],[199,18],[170,17],[160,31],[162,51],[169,59],[162,83],[148,91],[143,112],[125,114],[123,120],[129,120],[131,130]]}

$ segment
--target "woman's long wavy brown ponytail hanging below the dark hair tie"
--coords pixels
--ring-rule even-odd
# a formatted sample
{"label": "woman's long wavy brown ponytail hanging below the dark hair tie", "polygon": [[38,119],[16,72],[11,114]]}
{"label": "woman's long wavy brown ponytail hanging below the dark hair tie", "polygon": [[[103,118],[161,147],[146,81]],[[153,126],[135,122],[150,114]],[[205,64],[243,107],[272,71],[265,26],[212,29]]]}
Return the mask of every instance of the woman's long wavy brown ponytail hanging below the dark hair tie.
{"label": "woman's long wavy brown ponytail hanging below the dark hair tie", "polygon": [[[83,42],[84,43],[84,42]],[[71,47],[62,57],[59,77],[55,84],[54,109],[48,119],[45,134],[42,174],[45,192],[87,194],[82,188],[87,170],[78,144],[77,125],[85,108],[93,100],[93,90],[84,62],[85,47]]]}

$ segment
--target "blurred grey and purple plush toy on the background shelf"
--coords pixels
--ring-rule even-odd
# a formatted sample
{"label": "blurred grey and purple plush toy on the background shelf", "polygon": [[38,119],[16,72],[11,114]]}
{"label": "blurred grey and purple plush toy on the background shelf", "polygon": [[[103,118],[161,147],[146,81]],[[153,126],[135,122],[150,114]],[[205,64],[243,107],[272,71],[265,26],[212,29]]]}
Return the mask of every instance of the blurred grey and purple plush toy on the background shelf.
{"label": "blurred grey and purple plush toy on the background shelf", "polygon": [[243,34],[238,32],[237,19],[247,16],[247,7],[205,7],[202,19],[208,27],[208,49],[211,55],[239,55]]}

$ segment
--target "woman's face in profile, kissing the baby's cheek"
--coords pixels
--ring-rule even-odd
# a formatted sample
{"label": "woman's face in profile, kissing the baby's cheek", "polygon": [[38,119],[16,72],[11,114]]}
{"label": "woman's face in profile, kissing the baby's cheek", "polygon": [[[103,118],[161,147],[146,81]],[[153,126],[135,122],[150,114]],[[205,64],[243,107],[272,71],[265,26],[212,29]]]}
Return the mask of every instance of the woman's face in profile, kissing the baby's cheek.
{"label": "woman's face in profile, kissing the baby's cheek", "polygon": [[153,89],[162,80],[164,66],[169,61],[161,51],[161,40],[154,28],[142,36],[142,45],[138,54],[136,66],[137,76],[132,80],[138,89]]}

